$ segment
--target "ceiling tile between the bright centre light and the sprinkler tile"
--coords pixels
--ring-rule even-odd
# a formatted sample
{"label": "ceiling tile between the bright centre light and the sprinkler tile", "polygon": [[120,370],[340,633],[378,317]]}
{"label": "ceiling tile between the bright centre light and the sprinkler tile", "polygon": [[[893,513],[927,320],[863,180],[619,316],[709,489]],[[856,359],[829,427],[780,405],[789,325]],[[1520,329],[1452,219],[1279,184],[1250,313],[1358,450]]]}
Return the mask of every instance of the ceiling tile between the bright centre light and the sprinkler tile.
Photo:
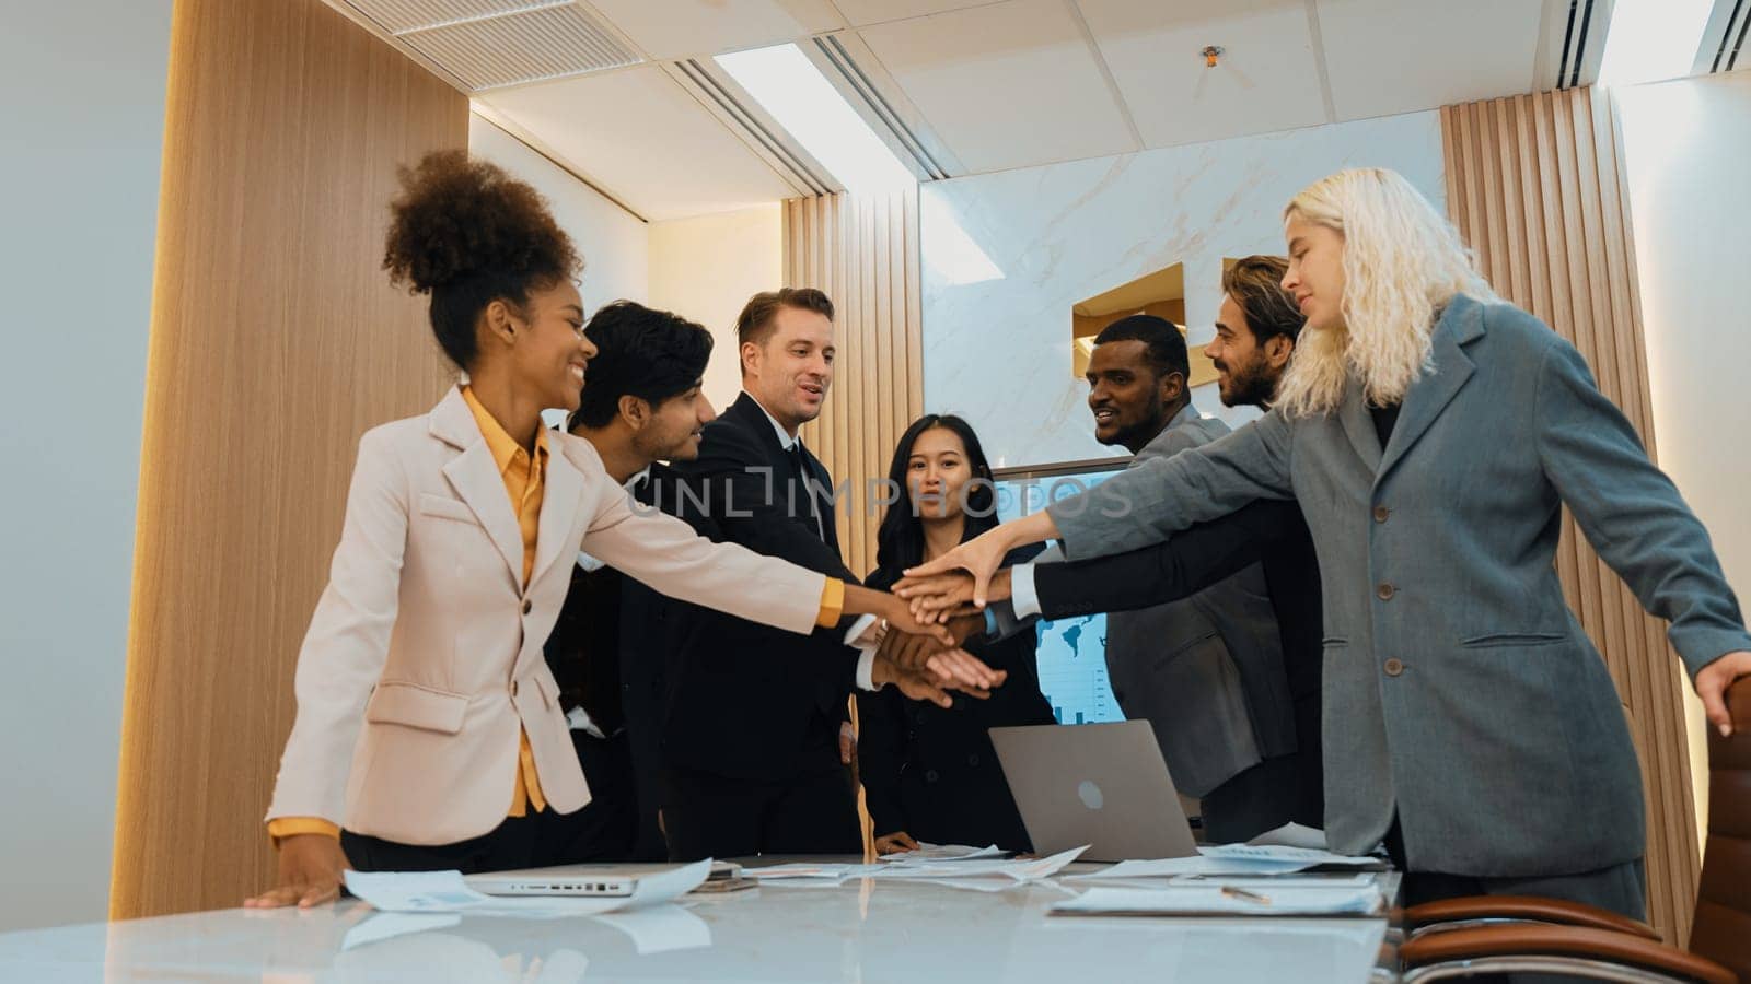
{"label": "ceiling tile between the bright centre light and the sprinkler tile", "polygon": [[970,172],[1140,149],[1063,0],[858,32]]}

